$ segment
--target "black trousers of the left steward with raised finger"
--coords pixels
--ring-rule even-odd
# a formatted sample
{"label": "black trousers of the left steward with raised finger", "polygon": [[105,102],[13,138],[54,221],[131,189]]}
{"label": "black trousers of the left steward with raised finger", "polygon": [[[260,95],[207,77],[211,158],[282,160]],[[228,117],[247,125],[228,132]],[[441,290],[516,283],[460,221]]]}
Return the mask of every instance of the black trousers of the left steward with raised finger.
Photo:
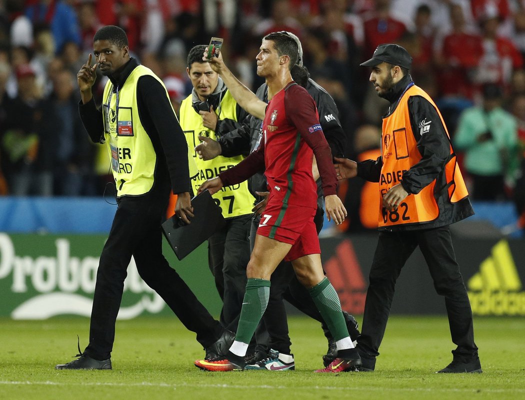
{"label": "black trousers of the left steward with raised finger", "polygon": [[86,355],[97,360],[106,360],[111,355],[115,321],[132,255],[141,278],[159,293],[184,326],[197,334],[197,341],[203,347],[212,345],[222,334],[222,325],[213,319],[162,255],[160,225],[166,206],[167,192],[119,199],[100,256]]}

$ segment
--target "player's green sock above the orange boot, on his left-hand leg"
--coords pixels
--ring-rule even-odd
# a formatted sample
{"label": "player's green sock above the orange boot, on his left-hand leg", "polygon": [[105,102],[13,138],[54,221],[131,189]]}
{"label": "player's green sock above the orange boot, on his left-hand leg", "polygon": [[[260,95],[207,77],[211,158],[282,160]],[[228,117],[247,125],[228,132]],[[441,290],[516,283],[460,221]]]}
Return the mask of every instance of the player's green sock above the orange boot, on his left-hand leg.
{"label": "player's green sock above the orange boot, on his left-hand leg", "polygon": [[270,281],[248,279],[235,340],[250,343],[270,297]]}

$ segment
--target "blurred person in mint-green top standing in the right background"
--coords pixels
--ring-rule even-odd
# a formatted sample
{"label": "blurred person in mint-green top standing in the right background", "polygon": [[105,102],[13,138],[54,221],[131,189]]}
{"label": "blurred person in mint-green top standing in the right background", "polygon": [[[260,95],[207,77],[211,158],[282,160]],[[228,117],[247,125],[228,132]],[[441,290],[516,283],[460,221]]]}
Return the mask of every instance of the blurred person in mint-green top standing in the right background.
{"label": "blurred person in mint-green top standing in the right background", "polygon": [[454,146],[465,152],[465,169],[472,178],[474,200],[503,200],[517,171],[517,125],[501,108],[502,88],[484,85],[481,107],[471,107],[460,117]]}

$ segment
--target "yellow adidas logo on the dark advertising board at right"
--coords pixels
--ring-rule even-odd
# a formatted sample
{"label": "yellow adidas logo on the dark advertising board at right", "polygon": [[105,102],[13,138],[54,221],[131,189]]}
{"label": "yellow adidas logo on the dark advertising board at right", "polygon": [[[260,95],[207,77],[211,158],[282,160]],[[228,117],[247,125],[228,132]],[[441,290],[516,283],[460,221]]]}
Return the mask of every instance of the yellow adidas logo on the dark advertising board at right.
{"label": "yellow adidas logo on the dark advertising board at right", "polygon": [[492,248],[479,272],[468,280],[467,289],[474,315],[525,316],[525,292],[506,240]]}

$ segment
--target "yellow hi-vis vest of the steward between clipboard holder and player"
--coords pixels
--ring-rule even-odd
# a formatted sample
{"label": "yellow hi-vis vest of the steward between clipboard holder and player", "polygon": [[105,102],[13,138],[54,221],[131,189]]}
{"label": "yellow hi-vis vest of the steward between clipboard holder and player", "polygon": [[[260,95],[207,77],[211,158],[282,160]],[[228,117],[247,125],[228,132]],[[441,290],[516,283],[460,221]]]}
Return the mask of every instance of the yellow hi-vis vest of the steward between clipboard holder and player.
{"label": "yellow hi-vis vest of the steward between clipboard holder and player", "polygon": [[[237,103],[229,90],[226,90],[223,98],[220,101],[220,106],[217,110],[214,110],[216,114],[220,112],[221,119],[233,119],[237,120],[236,112]],[[200,141],[198,136],[207,136],[214,140],[217,140],[215,132],[211,129],[204,127],[201,115],[197,114],[192,106],[192,95],[182,100],[180,109],[181,127],[186,135],[186,141],[188,146],[195,149]],[[197,164],[197,175],[192,180],[193,190],[196,193],[197,189],[206,179],[215,178],[220,172],[225,171],[228,168],[236,166],[239,162],[245,159],[244,156],[235,157],[223,157],[217,156],[213,160],[204,161],[198,158],[197,153],[193,151],[193,157],[191,160]],[[254,197],[251,196],[248,190],[248,181],[244,181],[239,184],[232,186],[225,186],[220,191],[213,195],[213,199],[222,209],[223,217],[237,217],[246,214],[251,214],[251,209],[254,205]]]}

